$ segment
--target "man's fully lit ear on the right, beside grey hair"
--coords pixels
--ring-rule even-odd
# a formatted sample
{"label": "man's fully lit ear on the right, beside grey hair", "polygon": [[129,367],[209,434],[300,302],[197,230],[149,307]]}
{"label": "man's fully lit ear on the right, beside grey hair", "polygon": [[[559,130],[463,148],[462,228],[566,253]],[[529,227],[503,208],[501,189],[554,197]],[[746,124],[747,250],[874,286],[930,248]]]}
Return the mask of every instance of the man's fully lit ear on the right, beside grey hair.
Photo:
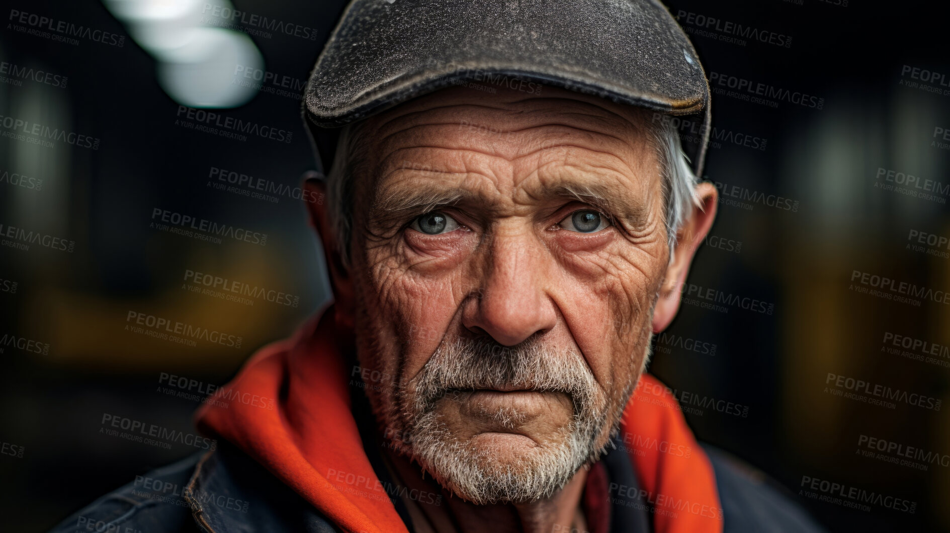
{"label": "man's fully lit ear on the right, beside grey hair", "polygon": [[674,257],[666,268],[663,284],[660,286],[659,299],[654,308],[653,331],[660,333],[670,325],[679,311],[679,299],[682,295],[683,283],[690,271],[690,263],[696,248],[703,243],[706,234],[712,227],[715,219],[715,210],[718,205],[719,192],[709,181],[702,181],[696,185],[696,197],[699,206],[693,205],[693,212],[676,233]]}

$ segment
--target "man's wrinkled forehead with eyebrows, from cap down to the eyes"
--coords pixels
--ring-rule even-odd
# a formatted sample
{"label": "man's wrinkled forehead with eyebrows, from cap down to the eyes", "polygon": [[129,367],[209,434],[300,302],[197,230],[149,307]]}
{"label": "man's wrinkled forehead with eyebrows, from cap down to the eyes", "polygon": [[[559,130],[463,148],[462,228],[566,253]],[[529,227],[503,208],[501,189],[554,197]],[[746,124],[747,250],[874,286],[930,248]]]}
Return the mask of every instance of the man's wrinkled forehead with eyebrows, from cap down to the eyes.
{"label": "man's wrinkled forehead with eyebrows, from cap down to the eyes", "polygon": [[424,206],[504,217],[520,212],[516,205],[565,198],[609,207],[641,227],[662,198],[649,116],[564,89],[451,87],[368,121],[371,177],[357,196],[380,233]]}

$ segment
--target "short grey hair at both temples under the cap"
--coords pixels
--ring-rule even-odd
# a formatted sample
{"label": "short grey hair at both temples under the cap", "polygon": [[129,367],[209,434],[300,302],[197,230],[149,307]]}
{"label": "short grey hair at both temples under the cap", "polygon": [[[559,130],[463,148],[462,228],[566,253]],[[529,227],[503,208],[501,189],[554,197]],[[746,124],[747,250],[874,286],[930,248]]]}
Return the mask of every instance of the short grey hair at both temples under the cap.
{"label": "short grey hair at both temples under the cap", "polygon": [[[675,121],[659,121],[649,124],[650,143],[660,162],[660,177],[663,184],[663,200],[666,203],[666,233],[670,245],[670,261],[673,261],[676,233],[699,206],[695,186],[699,181],[693,174],[689,158],[683,152],[676,131]],[[341,261],[350,265],[350,238],[352,237],[353,175],[357,165],[366,162],[369,146],[362,135],[360,121],[348,124],[340,131],[333,167],[327,174],[327,201],[330,202],[330,218],[334,238]]]}

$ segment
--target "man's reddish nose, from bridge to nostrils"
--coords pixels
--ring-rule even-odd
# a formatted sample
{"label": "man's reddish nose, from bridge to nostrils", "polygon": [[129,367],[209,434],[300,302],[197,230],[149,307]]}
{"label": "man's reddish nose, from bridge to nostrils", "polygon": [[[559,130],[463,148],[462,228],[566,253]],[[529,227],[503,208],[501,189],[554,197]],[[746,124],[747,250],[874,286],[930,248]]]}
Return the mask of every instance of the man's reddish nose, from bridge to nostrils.
{"label": "man's reddish nose, from bridge to nostrils", "polygon": [[552,260],[541,242],[529,235],[495,238],[481,285],[462,314],[470,331],[484,331],[504,346],[552,330],[558,320],[546,291]]}

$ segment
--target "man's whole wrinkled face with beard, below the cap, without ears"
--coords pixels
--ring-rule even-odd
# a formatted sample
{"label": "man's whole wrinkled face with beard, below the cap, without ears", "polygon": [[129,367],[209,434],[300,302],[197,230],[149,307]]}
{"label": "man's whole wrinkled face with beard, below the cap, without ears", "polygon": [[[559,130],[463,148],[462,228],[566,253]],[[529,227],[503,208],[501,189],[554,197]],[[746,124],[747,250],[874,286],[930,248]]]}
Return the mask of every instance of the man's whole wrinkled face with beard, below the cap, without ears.
{"label": "man's whole wrinkled face with beard, below the cap, without ears", "polygon": [[637,382],[669,248],[634,108],[446,89],[373,117],[355,178],[357,353],[397,447],[478,504],[549,496]]}

